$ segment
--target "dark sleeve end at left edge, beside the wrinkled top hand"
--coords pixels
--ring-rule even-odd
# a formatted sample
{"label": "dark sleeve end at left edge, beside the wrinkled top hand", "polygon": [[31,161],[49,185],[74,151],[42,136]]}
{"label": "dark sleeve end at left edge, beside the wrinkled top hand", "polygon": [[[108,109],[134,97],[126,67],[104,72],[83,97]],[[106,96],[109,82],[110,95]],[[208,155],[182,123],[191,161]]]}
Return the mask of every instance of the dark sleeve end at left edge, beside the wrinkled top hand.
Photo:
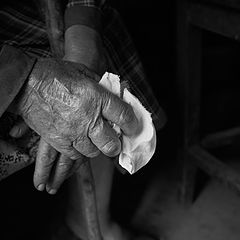
{"label": "dark sleeve end at left edge, beside the wrinkled top hand", "polygon": [[0,117],[19,93],[30,74],[35,58],[4,45],[0,52]]}

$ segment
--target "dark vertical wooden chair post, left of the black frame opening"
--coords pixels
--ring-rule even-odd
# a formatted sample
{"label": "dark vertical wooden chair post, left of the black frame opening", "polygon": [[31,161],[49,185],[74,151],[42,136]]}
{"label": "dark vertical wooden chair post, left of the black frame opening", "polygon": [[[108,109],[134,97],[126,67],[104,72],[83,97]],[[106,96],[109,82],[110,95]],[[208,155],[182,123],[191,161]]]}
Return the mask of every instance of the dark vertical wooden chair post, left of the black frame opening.
{"label": "dark vertical wooden chair post, left of the black frame opening", "polygon": [[199,141],[201,89],[201,30],[189,23],[188,1],[177,3],[177,88],[181,125],[182,179],[180,201],[193,201],[197,166],[188,157],[188,149]]}

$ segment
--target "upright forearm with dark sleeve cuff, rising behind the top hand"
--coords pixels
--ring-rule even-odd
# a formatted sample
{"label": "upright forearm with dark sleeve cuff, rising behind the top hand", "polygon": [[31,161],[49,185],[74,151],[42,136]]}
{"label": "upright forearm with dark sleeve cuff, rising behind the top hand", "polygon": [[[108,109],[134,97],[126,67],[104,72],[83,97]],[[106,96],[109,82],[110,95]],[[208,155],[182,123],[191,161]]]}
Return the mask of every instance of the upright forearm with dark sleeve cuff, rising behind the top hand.
{"label": "upright forearm with dark sleeve cuff, rising behind the top hand", "polygon": [[[104,54],[101,39],[100,1],[78,4],[72,1],[65,11],[65,56],[70,61],[85,64],[98,74],[103,74]],[[95,5],[94,5],[95,4]]]}

